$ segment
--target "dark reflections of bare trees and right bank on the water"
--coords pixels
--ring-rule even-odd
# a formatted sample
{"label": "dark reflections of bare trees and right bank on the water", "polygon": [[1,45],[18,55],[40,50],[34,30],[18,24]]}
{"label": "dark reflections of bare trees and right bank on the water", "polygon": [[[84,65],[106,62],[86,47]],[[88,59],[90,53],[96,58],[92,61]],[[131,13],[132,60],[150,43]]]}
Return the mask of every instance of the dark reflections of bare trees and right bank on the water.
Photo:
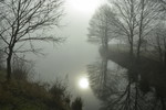
{"label": "dark reflections of bare trees and right bank on the water", "polygon": [[103,58],[89,65],[87,72],[95,96],[103,101],[101,110],[165,110],[164,98],[133,69],[112,70]]}

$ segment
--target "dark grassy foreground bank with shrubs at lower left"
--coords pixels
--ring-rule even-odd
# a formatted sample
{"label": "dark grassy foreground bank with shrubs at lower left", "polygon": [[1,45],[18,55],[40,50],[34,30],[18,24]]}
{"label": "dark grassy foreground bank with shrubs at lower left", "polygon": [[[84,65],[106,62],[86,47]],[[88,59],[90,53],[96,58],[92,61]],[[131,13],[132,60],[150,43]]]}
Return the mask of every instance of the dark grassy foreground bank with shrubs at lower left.
{"label": "dark grassy foreground bank with shrubs at lower left", "polygon": [[0,110],[69,110],[66,99],[63,86],[14,79],[7,82],[0,72]]}

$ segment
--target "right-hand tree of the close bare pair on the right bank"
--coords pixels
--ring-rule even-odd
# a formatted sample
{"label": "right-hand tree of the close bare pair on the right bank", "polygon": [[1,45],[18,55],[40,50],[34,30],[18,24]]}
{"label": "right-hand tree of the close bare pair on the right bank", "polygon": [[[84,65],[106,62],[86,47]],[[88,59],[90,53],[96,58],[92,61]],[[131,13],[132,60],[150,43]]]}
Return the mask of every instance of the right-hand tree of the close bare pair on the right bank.
{"label": "right-hand tree of the close bare pair on the right bank", "polygon": [[137,40],[137,58],[141,56],[141,46],[146,36],[152,32],[156,20],[159,16],[158,2],[152,2],[152,0],[139,0],[139,10],[138,10],[138,40]]}

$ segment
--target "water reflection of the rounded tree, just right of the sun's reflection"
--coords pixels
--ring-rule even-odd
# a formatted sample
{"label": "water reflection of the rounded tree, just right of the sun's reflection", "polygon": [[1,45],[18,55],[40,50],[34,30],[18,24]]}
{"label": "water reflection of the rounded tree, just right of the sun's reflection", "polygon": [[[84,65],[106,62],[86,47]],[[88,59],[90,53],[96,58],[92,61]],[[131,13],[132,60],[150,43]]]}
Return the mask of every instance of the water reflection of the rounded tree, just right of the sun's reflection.
{"label": "water reflection of the rounded tree, just right of the sun's reflection", "polygon": [[91,88],[93,89],[94,95],[100,99],[104,97],[104,92],[107,92],[105,89],[107,81],[110,80],[107,62],[108,59],[102,58],[100,62],[87,65]]}

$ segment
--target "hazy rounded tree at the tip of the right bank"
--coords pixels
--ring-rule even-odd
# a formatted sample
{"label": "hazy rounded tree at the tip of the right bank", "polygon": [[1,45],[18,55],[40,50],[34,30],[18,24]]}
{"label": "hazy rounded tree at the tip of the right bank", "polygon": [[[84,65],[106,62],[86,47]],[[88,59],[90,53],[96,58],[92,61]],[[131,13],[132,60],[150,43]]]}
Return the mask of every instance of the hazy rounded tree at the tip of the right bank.
{"label": "hazy rounded tree at the tip of the right bank", "polygon": [[104,4],[98,8],[90,21],[89,42],[102,44],[107,51],[108,42],[115,37],[114,31],[115,13],[110,6]]}

